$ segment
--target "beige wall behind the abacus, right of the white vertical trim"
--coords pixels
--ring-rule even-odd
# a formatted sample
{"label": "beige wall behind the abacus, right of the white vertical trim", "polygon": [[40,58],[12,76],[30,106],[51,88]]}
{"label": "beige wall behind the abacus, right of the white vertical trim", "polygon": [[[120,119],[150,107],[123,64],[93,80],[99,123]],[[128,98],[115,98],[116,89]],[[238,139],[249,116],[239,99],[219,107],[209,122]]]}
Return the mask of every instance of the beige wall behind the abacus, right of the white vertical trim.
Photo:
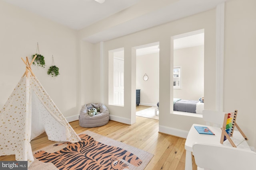
{"label": "beige wall behind the abacus, right of the white vertical trim", "polygon": [[256,147],[256,1],[226,3],[224,111],[238,110],[237,123]]}

